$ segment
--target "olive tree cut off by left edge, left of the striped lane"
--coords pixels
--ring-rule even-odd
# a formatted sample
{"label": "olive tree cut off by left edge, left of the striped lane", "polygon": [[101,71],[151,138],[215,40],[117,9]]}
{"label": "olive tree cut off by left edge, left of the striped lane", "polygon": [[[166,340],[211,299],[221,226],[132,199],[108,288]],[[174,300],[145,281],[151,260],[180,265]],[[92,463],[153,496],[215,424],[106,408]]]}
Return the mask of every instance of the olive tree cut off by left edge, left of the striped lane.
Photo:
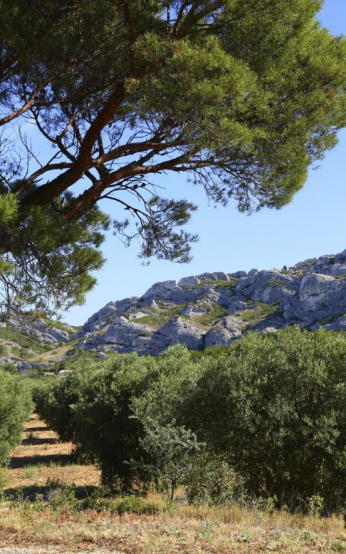
{"label": "olive tree cut off by left edge, left of the striped lane", "polygon": [[0,467],[8,464],[10,450],[20,442],[31,409],[31,395],[24,380],[0,368]]}

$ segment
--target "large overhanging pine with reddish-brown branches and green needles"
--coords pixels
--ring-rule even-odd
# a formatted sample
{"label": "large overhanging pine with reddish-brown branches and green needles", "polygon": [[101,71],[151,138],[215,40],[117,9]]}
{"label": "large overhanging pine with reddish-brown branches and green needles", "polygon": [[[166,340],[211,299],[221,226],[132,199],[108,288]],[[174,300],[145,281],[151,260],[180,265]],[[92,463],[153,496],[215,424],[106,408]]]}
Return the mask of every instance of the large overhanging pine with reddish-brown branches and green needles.
{"label": "large overhanging pine with reddish-brown branches and green needles", "polygon": [[346,125],[346,41],[320,27],[321,6],[0,0],[3,311],[82,301],[103,262],[102,199],[141,257],[189,260],[195,206],[156,175],[185,173],[247,213],[289,202]]}

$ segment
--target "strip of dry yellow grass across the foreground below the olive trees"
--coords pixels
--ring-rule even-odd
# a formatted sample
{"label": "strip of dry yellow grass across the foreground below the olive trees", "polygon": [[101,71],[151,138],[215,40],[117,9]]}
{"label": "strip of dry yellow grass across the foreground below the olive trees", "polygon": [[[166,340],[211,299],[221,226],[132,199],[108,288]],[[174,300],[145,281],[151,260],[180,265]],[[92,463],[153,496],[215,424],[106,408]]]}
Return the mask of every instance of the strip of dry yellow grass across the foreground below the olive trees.
{"label": "strip of dry yellow grass across the foreground below the olive trees", "polygon": [[[338,519],[308,520],[286,514],[230,510],[193,513],[176,509],[156,516],[109,515],[107,512],[39,512],[2,508],[0,544],[59,545],[85,543],[124,553],[334,553],[346,552],[346,535]],[[236,519],[239,514],[236,515]]]}

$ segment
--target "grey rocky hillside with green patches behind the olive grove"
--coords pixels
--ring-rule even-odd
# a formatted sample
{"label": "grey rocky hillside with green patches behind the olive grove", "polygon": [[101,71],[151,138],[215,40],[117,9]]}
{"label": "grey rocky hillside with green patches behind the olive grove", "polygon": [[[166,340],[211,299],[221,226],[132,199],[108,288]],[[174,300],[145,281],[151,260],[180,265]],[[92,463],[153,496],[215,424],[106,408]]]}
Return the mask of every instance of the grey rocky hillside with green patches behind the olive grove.
{"label": "grey rocky hillside with green patches behind the olive grove", "polygon": [[176,342],[202,350],[227,346],[246,331],[293,324],[346,330],[346,250],[288,269],[217,271],[156,283],[143,296],[109,302],[80,331],[42,319],[0,323],[0,363],[49,365],[83,352],[158,355]]}

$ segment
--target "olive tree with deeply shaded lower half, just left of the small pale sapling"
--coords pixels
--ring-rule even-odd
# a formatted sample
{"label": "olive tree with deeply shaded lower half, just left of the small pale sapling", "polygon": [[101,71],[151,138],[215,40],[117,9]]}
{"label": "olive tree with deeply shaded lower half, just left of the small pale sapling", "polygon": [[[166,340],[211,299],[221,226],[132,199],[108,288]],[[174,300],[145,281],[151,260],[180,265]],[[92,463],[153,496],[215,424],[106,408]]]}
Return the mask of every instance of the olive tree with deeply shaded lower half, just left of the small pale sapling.
{"label": "olive tree with deeply shaded lower half, just left of the small pale sapling", "polygon": [[131,489],[140,469],[130,462],[143,452],[143,425],[131,417],[131,401],[155,379],[156,364],[150,357],[131,354],[95,366],[99,369],[84,378],[83,393],[73,406],[75,442],[97,461],[104,485],[118,481],[123,489]]}

